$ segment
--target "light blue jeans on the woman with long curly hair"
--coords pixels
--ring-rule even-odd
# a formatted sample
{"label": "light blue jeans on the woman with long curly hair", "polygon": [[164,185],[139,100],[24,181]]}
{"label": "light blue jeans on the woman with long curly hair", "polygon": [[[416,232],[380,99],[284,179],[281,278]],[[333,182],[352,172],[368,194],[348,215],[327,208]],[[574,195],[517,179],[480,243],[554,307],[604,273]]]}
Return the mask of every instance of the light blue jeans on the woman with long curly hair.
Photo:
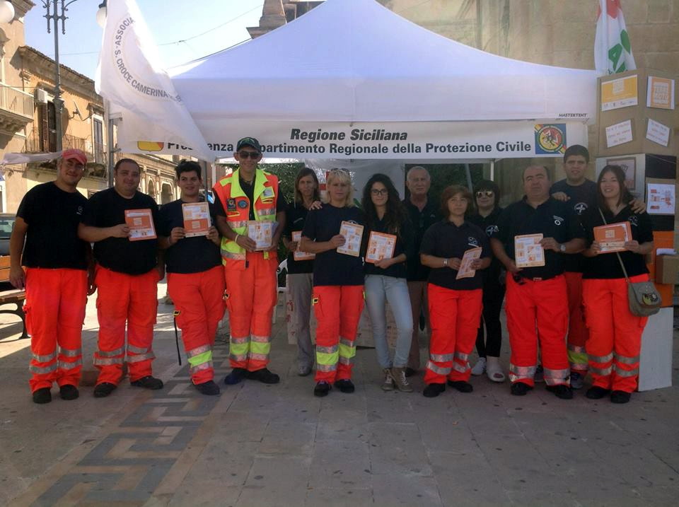
{"label": "light blue jeans on the woman with long curly hair", "polygon": [[[382,368],[405,368],[412,340],[412,309],[405,278],[368,274],[366,276],[366,305],[373,327],[373,340],[377,361]],[[396,321],[396,351],[394,359],[389,356],[387,343],[387,317],[385,301],[389,302]]]}

